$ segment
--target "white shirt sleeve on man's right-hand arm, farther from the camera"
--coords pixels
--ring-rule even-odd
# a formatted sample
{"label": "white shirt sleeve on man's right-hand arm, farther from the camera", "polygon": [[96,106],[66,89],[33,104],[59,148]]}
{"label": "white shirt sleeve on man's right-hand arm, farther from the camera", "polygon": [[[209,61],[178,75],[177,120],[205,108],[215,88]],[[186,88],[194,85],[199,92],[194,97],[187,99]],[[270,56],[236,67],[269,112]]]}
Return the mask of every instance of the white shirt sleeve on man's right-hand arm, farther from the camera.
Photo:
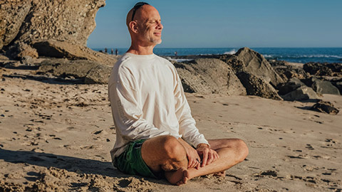
{"label": "white shirt sleeve on man's right-hand arm, farther from the camera", "polygon": [[199,133],[195,119],[192,118],[190,106],[185,97],[182,82],[177,74],[177,70],[175,70],[175,75],[175,112],[180,124],[180,134],[182,134],[183,139],[192,144],[192,146],[197,147],[198,144],[209,145],[207,139],[204,138],[204,135]]}

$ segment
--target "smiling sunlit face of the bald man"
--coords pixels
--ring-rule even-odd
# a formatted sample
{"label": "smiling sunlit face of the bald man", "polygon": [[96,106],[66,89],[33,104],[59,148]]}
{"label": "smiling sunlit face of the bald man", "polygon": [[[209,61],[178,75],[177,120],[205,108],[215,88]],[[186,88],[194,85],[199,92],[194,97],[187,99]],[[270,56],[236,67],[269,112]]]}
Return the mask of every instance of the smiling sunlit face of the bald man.
{"label": "smiling sunlit face of the bald man", "polygon": [[153,6],[142,6],[141,17],[138,19],[140,41],[147,45],[162,43],[162,23],[160,15]]}

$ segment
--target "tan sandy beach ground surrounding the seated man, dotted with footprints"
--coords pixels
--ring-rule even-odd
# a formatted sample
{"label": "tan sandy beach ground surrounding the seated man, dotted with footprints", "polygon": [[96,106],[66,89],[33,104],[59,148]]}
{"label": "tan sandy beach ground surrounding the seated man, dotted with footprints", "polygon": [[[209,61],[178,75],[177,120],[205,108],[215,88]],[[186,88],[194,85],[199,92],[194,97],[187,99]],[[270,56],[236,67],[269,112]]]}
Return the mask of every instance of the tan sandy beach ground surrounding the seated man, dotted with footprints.
{"label": "tan sandy beach ground surrounding the seated man, dotted with footprints", "polygon": [[[342,191],[342,112],[310,102],[187,94],[207,139],[240,138],[245,161],[183,186],[121,174],[106,85],[31,76],[0,79],[0,191]],[[342,109],[342,97],[323,95]]]}

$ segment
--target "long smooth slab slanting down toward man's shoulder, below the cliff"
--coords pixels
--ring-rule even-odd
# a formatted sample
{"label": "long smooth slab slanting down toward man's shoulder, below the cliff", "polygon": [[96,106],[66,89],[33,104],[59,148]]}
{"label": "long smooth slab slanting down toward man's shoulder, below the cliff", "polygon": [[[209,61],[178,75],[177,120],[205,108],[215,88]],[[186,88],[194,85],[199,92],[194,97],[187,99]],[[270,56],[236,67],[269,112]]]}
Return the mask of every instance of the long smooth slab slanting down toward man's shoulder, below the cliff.
{"label": "long smooth slab slanting down toward man's shoulder, below the cliff", "polygon": [[68,58],[71,60],[93,60],[104,65],[114,65],[117,61],[113,55],[99,53],[84,46],[73,45],[66,41],[36,41],[33,42],[39,56],[53,58]]}

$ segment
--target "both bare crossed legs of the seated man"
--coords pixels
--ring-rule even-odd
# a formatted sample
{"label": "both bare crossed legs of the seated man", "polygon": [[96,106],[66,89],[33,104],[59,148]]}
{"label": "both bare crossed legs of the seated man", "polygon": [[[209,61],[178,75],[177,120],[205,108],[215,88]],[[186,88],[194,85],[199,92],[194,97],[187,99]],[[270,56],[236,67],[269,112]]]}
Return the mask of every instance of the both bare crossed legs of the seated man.
{"label": "both bare crossed legs of the seated man", "polygon": [[142,159],[155,173],[165,173],[172,184],[183,184],[195,176],[221,173],[243,161],[248,155],[247,145],[241,139],[210,139],[210,148],[217,151],[219,159],[199,169],[187,169],[184,147],[172,136],[148,139],[142,144]]}

